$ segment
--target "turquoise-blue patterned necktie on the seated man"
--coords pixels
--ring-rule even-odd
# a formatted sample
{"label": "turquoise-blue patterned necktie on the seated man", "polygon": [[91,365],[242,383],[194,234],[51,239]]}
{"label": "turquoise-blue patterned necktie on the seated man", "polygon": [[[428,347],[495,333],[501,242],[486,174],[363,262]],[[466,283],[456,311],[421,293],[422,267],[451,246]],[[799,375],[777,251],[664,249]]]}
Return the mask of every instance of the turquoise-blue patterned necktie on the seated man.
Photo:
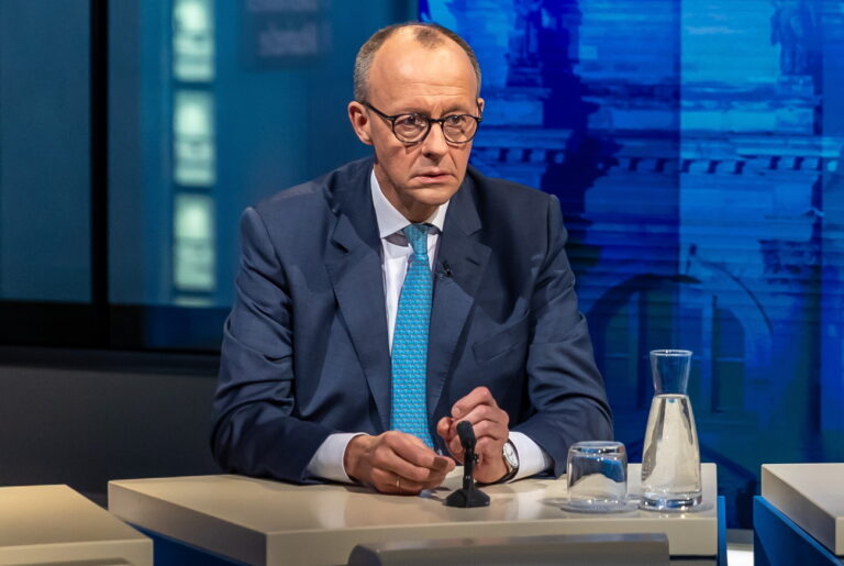
{"label": "turquoise-blue patterned necktie on the seated man", "polygon": [[392,334],[392,411],[390,429],[413,434],[433,448],[425,398],[427,328],[433,280],[427,260],[430,224],[410,224],[402,232],[413,247],[401,287]]}

